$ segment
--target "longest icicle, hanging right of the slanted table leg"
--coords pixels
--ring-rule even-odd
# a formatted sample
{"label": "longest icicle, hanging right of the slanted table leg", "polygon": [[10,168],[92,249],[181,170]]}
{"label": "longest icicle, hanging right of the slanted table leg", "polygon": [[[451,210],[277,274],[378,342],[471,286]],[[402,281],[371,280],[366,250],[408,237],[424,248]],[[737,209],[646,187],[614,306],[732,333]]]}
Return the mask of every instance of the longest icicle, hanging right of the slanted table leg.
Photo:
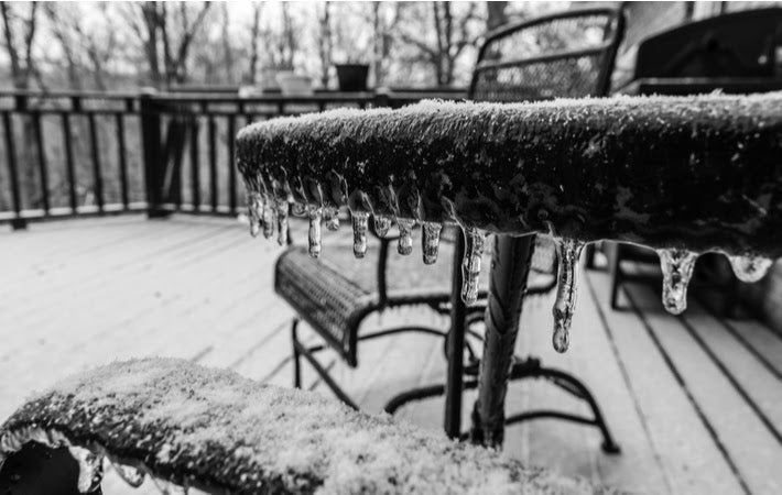
{"label": "longest icicle, hanging right of the slanted table leg", "polygon": [[556,300],[552,311],[554,314],[552,340],[556,352],[565,352],[571,343],[571,323],[576,309],[578,260],[584,249],[584,242],[575,239],[554,238],[554,244],[560,268],[557,271]]}

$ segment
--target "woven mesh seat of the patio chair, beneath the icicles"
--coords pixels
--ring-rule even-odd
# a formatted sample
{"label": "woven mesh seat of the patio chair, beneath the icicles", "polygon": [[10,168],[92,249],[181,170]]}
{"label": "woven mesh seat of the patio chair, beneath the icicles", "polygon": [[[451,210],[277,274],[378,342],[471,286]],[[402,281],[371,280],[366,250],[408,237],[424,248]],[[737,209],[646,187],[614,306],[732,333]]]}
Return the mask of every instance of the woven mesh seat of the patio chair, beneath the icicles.
{"label": "woven mesh seat of the patio chair, beneath the icicles", "polygon": [[[491,238],[489,240],[491,242]],[[394,248],[391,248],[393,251]],[[356,260],[349,245],[333,245],[317,260],[303,246],[291,246],[276,263],[274,290],[351,366],[357,364],[358,330],[370,312],[382,309],[378,292],[378,245]],[[441,243],[439,256],[453,256],[453,243]],[[484,262],[490,263],[491,244]],[[551,240],[539,237],[532,260],[530,288],[551,287],[555,262]],[[416,254],[389,254],[387,306],[441,304],[450,298],[449,263],[423,265]],[[488,287],[488,271],[481,273],[481,292]]]}

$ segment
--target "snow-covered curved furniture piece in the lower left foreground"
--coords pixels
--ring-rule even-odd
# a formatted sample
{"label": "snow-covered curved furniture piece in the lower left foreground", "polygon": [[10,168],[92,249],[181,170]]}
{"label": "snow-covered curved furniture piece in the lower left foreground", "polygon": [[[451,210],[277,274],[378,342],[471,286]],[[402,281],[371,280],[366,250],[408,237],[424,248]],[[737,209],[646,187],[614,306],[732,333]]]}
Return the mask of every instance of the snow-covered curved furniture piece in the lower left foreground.
{"label": "snow-covered curved furniture piece in the lower left foreground", "polygon": [[388,416],[172,359],[117,362],[32,398],[0,429],[0,459],[30,441],[68,447],[84,491],[106,458],[131,483],[146,474],[209,493],[602,493]]}

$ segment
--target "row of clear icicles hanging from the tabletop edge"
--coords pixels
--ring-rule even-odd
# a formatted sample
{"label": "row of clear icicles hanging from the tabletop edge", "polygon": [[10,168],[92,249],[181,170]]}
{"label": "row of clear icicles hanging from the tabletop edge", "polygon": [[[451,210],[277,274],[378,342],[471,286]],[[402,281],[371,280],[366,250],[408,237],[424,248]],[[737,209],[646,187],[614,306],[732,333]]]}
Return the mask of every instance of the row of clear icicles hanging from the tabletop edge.
{"label": "row of clear icicles hanging from the tabletop edge", "polygon": [[[287,242],[287,199],[272,199],[259,193],[250,193],[248,198],[250,232],[253,237],[263,231],[263,235],[269,239],[278,232],[278,242],[284,245]],[[321,255],[321,223],[325,222],[328,230],[339,229],[339,211],[336,207],[315,207],[294,202],[291,208],[293,215],[308,217],[309,219],[309,255],[317,257]],[[368,211],[350,209],[354,255],[363,257],[367,253],[367,231],[369,229]],[[416,224],[415,220],[405,218],[390,218],[381,215],[372,215],[374,231],[378,235],[384,237],[391,224],[397,223],[399,229],[400,254],[408,255],[413,251],[412,230]],[[443,226],[436,222],[422,222],[422,251],[423,261],[433,264],[437,261],[437,250],[439,246],[439,233]],[[475,304],[478,298],[478,285],[480,277],[480,265],[484,255],[486,233],[475,228],[461,226],[465,234],[465,255],[461,263],[464,282],[461,287],[461,299],[467,305]],[[557,292],[554,302],[554,333],[553,343],[557,352],[565,352],[569,344],[569,328],[573,321],[573,314],[576,305],[576,288],[578,261],[584,242],[560,238],[553,235],[557,251]],[[698,253],[686,249],[659,249],[660,266],[663,273],[663,306],[673,314],[678,315],[687,307],[687,285],[693,275],[695,261]],[[728,255],[734,273],[741,282],[757,282],[765,275],[772,260],[754,255]]]}

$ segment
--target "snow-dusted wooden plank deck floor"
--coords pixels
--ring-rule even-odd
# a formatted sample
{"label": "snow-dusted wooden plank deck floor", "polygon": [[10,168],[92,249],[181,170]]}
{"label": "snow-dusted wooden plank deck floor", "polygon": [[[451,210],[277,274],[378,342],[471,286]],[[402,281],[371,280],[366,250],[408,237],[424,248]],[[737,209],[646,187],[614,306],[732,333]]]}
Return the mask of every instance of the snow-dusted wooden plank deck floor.
{"label": "snow-dusted wooden plank deck floor", "polygon": [[[271,289],[278,252],[218,219],[123,217],[0,233],[0,418],[63,375],[130,356],[186,358],[289,386],[292,314]],[[608,286],[599,271],[582,279],[564,355],[551,349],[551,298],[528,300],[518,351],[578,374],[622,453],[601,453],[594,429],[547,419],[510,428],[507,451],[632,493],[782,493],[780,336],[757,321],[716,317],[694,297],[683,317],[672,317],[643,285],[628,285],[627,309],[612,311]],[[391,311],[382,322],[411,318],[447,323],[424,310]],[[369,410],[395,392],[443,380],[439,342],[362,345],[359,370],[336,361],[333,369]],[[305,384],[328,393],[311,372]],[[466,413],[470,404],[468,396]],[[513,384],[509,411],[531,405],[585,413],[545,383]],[[439,428],[442,409],[433,399],[399,416]],[[144,486],[131,491],[109,475],[106,493],[153,493]]]}

